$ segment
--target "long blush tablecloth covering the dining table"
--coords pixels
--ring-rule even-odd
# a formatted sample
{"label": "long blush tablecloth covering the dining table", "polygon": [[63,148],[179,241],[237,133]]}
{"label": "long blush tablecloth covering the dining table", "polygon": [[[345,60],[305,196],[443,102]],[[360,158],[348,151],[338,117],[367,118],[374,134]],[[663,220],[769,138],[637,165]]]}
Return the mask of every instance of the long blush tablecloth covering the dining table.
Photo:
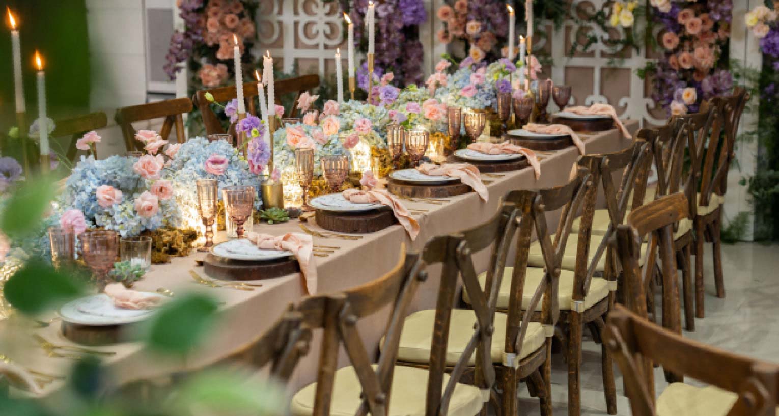
{"label": "long blush tablecloth covering the dining table", "polygon": [[[635,136],[638,122],[629,120],[626,127]],[[631,139],[625,139],[617,129],[606,132],[583,134],[587,153],[605,153],[629,146]],[[562,150],[538,153],[541,159],[541,177],[536,179],[530,167],[520,171],[503,172],[497,175],[482,175],[489,191],[487,202],[480,199],[474,192],[462,196],[446,198],[441,203],[421,203],[404,200],[403,203],[420,212],[415,215],[421,231],[418,237],[411,241],[403,227],[396,224],[372,234],[362,234],[358,240],[334,238],[314,238],[317,245],[338,247],[326,257],[315,257],[318,274],[318,293],[343,291],[349,287],[382,276],[390,271],[400,258],[400,250],[421,251],[425,242],[435,235],[449,234],[468,227],[474,227],[484,222],[495,213],[501,197],[513,189],[548,188],[566,183],[573,164],[579,156],[575,146]],[[425,211],[425,212],[422,212]],[[551,213],[550,224],[556,224],[557,216]],[[323,231],[316,224],[309,222],[308,227],[315,231]],[[286,232],[302,232],[298,220],[282,224],[255,224],[255,231],[269,234]],[[104,363],[115,377],[116,383],[126,383],[139,379],[153,379],[172,372],[196,368],[205,362],[214,361],[226,356],[236,348],[241,347],[268,329],[280,316],[284,308],[303,298],[307,293],[300,274],[293,274],[272,279],[257,280],[262,287],[252,291],[241,291],[227,287],[213,288],[197,284],[190,275],[195,270],[204,275],[203,267],[197,266],[196,260],[203,259],[202,252],[193,251],[188,257],[171,259],[171,263],[153,265],[143,280],[136,284],[141,291],[156,291],[165,288],[174,295],[201,291],[213,295],[224,302],[220,307],[218,324],[208,333],[206,342],[196,352],[186,358],[164,358],[150,351],[141,342],[126,342],[105,347],[97,347],[104,351],[113,351],[115,355],[105,358]],[[478,271],[486,270],[489,259],[488,250],[476,253],[474,263]],[[438,268],[429,267],[430,278],[420,287],[412,305],[412,312],[421,308],[434,308],[438,294]],[[362,319],[359,330],[363,343],[370,356],[378,351],[379,341],[386,328],[389,311],[380,312],[368,319]],[[55,320],[48,327],[35,330],[21,330],[11,321],[0,321],[0,354],[11,357],[27,368],[62,374],[68,372],[73,361],[63,358],[48,358],[44,350],[31,337],[37,333],[55,344],[69,344],[62,335],[60,322]],[[301,360],[289,384],[294,391],[315,380],[317,360],[319,358],[318,338],[312,341],[312,349]],[[344,356],[344,354],[341,354]],[[342,365],[347,364],[341,357]],[[43,396],[58,397],[62,393],[61,381],[56,381],[43,388]]]}

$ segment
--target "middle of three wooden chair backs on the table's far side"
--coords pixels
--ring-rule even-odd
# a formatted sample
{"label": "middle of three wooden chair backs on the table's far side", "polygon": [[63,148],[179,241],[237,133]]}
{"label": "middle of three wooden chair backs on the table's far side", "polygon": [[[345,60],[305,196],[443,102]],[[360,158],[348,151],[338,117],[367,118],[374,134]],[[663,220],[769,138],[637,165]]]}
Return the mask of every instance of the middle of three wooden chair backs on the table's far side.
{"label": "middle of three wooden chair backs on the table's far side", "polygon": [[183,115],[190,111],[192,111],[192,100],[182,97],[118,108],[114,114],[114,120],[122,129],[125,149],[129,152],[143,150],[143,143],[136,140],[136,129],[132,127],[132,123],[152,120],[153,118],[165,118],[162,129],[160,129],[160,137],[167,140],[167,136],[170,136],[171,130],[175,127],[176,140],[178,143],[184,143],[186,134]]}

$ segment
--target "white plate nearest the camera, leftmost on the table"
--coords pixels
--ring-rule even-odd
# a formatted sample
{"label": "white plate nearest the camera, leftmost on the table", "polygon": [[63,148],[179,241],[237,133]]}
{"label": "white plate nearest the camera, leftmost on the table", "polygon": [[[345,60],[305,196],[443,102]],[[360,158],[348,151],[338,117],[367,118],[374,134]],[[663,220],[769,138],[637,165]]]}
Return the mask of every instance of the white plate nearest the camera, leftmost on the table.
{"label": "white plate nearest the camera, leftmost on the table", "polygon": [[[146,293],[167,299],[162,294]],[[77,325],[105,326],[136,323],[148,319],[155,309],[125,309],[117,308],[108,294],[91,294],[85,298],[69,301],[58,309],[57,313],[63,321]]]}

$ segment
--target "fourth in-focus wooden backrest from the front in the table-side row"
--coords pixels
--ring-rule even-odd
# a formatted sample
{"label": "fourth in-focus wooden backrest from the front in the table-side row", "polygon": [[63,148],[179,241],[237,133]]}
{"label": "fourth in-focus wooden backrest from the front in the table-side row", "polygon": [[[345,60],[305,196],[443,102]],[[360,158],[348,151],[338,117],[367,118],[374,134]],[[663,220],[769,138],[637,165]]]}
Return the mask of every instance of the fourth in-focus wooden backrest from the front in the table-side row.
{"label": "fourth in-focus wooden backrest from the front in the table-side row", "polygon": [[[612,271],[615,272],[612,266],[612,253],[606,252],[608,240],[612,237],[616,227],[625,220],[630,194],[633,193],[636,185],[639,185],[639,187],[642,185],[643,182],[639,180],[640,172],[646,168],[647,160],[650,160],[649,148],[647,142],[640,139],[636,139],[633,145],[623,150],[613,153],[585,154],[579,158],[578,164],[581,167],[587,167],[594,185],[587,189],[579,226],[579,239],[576,245],[576,266],[574,270],[574,301],[583,301],[584,297],[587,296],[587,293],[590,291],[590,281],[604,253],[606,253],[605,264],[607,265],[605,277],[607,279],[615,279],[616,273],[612,273]],[[622,172],[619,188],[616,188],[614,185],[612,174],[615,172]],[[601,244],[595,248],[594,255],[590,259],[590,234],[599,184],[603,185],[610,223],[601,240]],[[643,197],[642,189],[639,189],[636,193]],[[636,197],[637,195],[633,196],[634,203],[636,202]]]}

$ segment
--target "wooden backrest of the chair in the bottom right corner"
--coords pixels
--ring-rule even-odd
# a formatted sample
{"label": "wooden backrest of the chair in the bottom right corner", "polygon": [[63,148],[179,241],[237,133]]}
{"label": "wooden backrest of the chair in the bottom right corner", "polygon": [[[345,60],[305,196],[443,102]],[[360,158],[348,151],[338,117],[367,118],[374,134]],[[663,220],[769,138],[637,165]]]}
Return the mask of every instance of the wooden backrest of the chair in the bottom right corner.
{"label": "wooden backrest of the chair in the bottom right corner", "polygon": [[[606,320],[605,343],[622,370],[635,416],[654,416],[655,361],[673,372],[738,395],[728,416],[774,416],[779,400],[779,365],[701,344],[657,326],[621,305]],[[642,361],[649,361],[647,368]]]}

